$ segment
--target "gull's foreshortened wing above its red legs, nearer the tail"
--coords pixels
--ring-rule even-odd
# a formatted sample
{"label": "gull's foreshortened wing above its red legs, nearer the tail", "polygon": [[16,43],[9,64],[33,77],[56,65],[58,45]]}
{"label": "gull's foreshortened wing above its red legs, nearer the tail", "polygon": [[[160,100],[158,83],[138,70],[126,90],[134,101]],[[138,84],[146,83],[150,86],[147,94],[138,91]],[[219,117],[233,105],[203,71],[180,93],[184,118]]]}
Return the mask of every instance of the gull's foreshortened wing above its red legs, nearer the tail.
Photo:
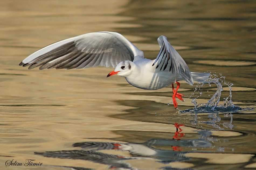
{"label": "gull's foreshortened wing above its red legs, nearer the tail", "polygon": [[188,84],[193,85],[193,77],[187,64],[167,41],[167,38],[160,36],[157,41],[160,46],[160,52],[157,58],[151,62],[152,67],[155,69],[154,72],[169,71],[172,74],[179,74]]}

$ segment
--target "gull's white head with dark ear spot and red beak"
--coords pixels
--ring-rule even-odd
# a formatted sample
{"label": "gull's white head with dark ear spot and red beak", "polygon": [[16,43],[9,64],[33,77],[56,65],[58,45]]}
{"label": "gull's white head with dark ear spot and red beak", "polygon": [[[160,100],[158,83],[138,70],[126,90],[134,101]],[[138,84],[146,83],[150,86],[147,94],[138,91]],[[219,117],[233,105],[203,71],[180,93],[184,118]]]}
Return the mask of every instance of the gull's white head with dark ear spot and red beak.
{"label": "gull's white head with dark ear spot and red beak", "polygon": [[114,74],[120,75],[122,77],[127,77],[132,73],[132,70],[135,68],[135,64],[131,61],[123,61],[117,64],[114,71],[110,72],[107,77],[112,76]]}

